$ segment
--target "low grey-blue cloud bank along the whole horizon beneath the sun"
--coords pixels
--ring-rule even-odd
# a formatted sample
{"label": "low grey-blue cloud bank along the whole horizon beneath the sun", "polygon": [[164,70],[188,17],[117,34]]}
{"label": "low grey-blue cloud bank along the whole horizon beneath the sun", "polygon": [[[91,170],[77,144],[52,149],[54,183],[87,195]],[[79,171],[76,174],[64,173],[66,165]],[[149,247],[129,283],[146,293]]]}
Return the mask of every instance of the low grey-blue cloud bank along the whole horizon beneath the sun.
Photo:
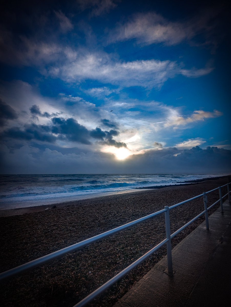
{"label": "low grey-blue cloud bank along the whole horizon beneath the sun", "polygon": [[[73,169],[78,170],[79,173],[86,173],[94,168],[99,173],[141,173],[143,171],[144,173],[205,172],[211,174],[211,172],[226,173],[231,168],[231,151],[217,147],[201,149],[196,146],[190,150],[183,150],[181,153],[177,148],[151,150],[128,157],[126,163],[112,159],[111,154],[106,153],[79,154],[73,151],[61,153],[58,148],[56,150],[43,148],[42,153],[37,155],[37,150],[37,148],[26,145],[9,151],[6,146],[3,146],[3,171],[22,173],[24,170],[30,173],[34,170],[35,173],[58,173],[63,167],[63,173],[72,173]],[[51,160],[52,163],[50,163]]]}

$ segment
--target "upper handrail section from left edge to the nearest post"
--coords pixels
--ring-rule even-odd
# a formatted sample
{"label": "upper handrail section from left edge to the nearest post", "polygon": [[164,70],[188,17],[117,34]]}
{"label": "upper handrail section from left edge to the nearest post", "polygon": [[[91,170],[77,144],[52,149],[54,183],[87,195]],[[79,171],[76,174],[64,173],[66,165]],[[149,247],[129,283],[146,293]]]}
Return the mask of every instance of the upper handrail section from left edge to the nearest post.
{"label": "upper handrail section from left edge to the nearest post", "polygon": [[89,245],[91,243],[94,243],[94,242],[96,242],[96,241],[98,241],[100,239],[104,239],[104,238],[106,238],[106,237],[108,237],[110,235],[113,235],[114,233],[116,233],[118,231],[121,231],[121,230],[126,229],[128,227],[131,227],[131,226],[136,225],[138,223],[141,223],[141,222],[143,222],[145,220],[148,220],[148,219],[150,219],[150,218],[152,218],[154,216],[157,216],[157,215],[159,215],[159,214],[161,214],[163,212],[166,212],[166,209],[162,209],[162,210],[159,210],[157,212],[151,213],[151,214],[149,214],[147,216],[141,217],[140,219],[134,220],[134,221],[129,222],[127,224],[124,224],[124,225],[121,225],[119,227],[113,228],[111,230],[105,231],[105,232],[103,232],[103,233],[101,233],[99,235],[95,235],[94,237],[91,237],[89,239],[86,239],[86,240],[83,240],[81,242],[78,242],[78,243],[75,243],[73,245],[70,245],[68,247],[65,247],[65,248],[63,248],[63,249],[61,249],[59,251],[55,251],[55,252],[53,252],[53,253],[51,253],[49,255],[45,255],[43,257],[37,258],[37,259],[32,260],[30,262],[27,262],[25,264],[22,264],[21,266],[17,266],[17,267],[15,267],[13,269],[10,269],[10,270],[8,270],[6,272],[1,273],[0,274],[0,281],[3,280],[3,279],[10,278],[10,277],[13,277],[15,275],[18,275],[18,274],[20,274],[22,272],[25,272],[27,270],[33,269],[33,268],[35,268],[37,266],[40,266],[40,265],[42,265],[42,264],[44,264],[46,262],[49,262],[49,261],[51,261],[53,259],[56,259],[56,258],[59,258],[61,256],[66,255],[66,254],[69,254],[72,251],[76,251],[77,249],[79,249],[81,247],[85,247],[85,246],[87,246],[87,245]]}

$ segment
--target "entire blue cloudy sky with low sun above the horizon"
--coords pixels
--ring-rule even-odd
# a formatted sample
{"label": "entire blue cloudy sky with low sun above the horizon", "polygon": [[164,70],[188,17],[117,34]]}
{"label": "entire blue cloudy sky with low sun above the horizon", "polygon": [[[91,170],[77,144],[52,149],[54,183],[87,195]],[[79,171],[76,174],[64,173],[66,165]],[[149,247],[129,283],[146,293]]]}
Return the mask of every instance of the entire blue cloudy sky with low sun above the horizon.
{"label": "entire blue cloudy sky with low sun above the horizon", "polygon": [[3,1],[1,173],[229,173],[226,1]]}

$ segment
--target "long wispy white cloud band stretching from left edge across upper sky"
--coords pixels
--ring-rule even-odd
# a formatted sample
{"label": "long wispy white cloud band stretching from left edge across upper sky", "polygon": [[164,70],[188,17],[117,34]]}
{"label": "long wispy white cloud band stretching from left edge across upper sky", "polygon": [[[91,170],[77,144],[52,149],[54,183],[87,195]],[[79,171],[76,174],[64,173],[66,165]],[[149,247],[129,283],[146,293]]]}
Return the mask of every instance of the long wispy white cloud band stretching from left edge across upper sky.
{"label": "long wispy white cloud band stretching from left edge across upper sky", "polygon": [[170,60],[123,61],[103,51],[64,46],[55,39],[48,42],[20,36],[16,46],[14,37],[8,34],[3,33],[0,40],[2,61],[10,65],[37,67],[42,74],[67,82],[80,83],[91,79],[122,87],[160,88],[176,75],[200,77],[213,70],[211,67],[183,69],[183,64]]}

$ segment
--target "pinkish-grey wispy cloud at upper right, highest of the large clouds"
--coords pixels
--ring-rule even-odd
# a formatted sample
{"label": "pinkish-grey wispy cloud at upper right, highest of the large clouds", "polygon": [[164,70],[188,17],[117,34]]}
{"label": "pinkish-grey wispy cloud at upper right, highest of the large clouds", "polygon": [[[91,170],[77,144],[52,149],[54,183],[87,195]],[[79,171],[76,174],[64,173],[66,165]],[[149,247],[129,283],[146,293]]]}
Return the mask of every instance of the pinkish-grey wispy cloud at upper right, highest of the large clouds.
{"label": "pinkish-grey wispy cloud at upper right, highest of the large clouds", "polygon": [[138,44],[144,45],[176,45],[203,33],[207,43],[215,44],[211,39],[209,41],[209,35],[213,35],[216,26],[211,20],[219,11],[219,6],[207,8],[196,17],[182,22],[170,21],[156,12],[134,14],[129,21],[111,31],[108,43],[136,39]]}

